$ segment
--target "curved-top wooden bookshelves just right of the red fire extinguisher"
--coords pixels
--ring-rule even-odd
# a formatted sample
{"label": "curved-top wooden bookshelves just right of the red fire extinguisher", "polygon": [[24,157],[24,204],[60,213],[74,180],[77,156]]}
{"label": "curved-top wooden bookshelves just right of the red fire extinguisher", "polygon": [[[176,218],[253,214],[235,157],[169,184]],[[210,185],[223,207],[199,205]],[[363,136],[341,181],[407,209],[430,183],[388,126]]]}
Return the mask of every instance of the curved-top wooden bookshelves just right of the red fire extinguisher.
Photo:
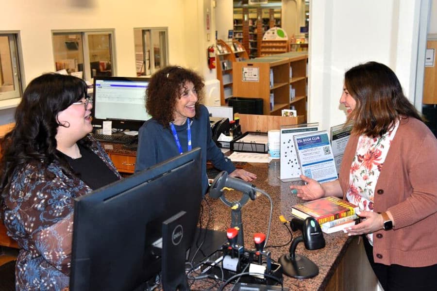
{"label": "curved-top wooden bookshelves just right of the red fire extinguisher", "polygon": [[[232,47],[231,47],[232,46]],[[233,40],[229,43],[217,40],[217,79],[220,81],[220,105],[225,105],[226,100],[233,96],[233,63],[249,59],[247,51],[240,42]]]}

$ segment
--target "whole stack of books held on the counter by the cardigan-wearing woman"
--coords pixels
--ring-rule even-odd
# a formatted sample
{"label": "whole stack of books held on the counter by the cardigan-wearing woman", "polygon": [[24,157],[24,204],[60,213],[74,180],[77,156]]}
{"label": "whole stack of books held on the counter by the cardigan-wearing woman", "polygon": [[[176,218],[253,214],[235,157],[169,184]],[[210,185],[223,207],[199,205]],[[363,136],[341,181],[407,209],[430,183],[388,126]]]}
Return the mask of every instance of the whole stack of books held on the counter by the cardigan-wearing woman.
{"label": "whole stack of books held on the counter by the cardigan-wearing woman", "polygon": [[291,214],[296,217],[314,217],[324,233],[333,233],[353,226],[359,218],[356,215],[357,211],[358,206],[335,196],[322,197],[291,207]]}

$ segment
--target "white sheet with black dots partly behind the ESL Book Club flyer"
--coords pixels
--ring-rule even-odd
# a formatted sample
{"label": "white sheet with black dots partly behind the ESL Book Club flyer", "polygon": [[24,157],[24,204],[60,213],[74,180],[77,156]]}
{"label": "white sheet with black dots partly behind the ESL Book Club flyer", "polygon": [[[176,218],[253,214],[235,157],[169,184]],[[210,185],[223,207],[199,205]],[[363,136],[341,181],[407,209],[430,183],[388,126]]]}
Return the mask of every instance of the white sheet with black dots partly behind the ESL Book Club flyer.
{"label": "white sheet with black dots partly behind the ESL Book Club flyer", "polygon": [[302,172],[299,166],[299,161],[294,146],[293,136],[296,134],[303,134],[308,132],[319,131],[319,123],[307,123],[297,125],[281,126],[280,132],[280,179],[281,181],[297,181],[300,180]]}

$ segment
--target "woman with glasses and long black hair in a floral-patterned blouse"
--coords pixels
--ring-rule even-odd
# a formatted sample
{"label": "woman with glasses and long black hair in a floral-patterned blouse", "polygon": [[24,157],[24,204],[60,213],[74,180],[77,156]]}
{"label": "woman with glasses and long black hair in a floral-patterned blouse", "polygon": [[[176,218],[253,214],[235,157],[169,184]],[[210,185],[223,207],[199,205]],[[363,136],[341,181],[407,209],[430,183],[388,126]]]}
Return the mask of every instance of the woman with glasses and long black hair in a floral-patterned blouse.
{"label": "woman with glasses and long black hair in a floral-patterned blouse", "polygon": [[120,179],[89,134],[91,108],[83,80],[42,75],[27,86],[2,141],[0,209],[21,248],[17,290],[68,287],[73,198]]}

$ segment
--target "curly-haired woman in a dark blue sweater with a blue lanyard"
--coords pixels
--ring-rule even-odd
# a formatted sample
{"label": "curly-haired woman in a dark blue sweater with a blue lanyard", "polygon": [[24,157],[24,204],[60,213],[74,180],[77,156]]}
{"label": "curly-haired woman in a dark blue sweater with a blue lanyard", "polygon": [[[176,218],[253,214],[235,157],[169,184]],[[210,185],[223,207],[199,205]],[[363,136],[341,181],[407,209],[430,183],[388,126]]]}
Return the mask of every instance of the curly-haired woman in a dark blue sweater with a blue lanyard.
{"label": "curly-haired woman in a dark blue sweater with a blue lanyard", "polygon": [[165,67],[152,76],[146,96],[146,110],[152,118],[139,129],[135,172],[200,146],[203,194],[208,187],[206,161],[231,177],[245,181],[256,178],[255,174],[235,169],[212,140],[208,110],[199,104],[203,86],[202,77],[180,66]]}

